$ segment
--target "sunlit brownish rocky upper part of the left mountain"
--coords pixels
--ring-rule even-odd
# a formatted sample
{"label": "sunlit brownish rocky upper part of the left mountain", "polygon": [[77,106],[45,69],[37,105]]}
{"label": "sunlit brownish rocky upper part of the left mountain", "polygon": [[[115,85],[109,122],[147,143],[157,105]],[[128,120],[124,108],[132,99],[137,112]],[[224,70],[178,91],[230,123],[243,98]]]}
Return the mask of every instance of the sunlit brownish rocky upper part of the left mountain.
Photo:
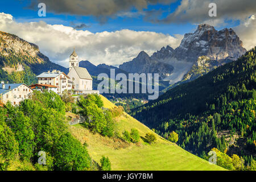
{"label": "sunlit brownish rocky upper part of the left mountain", "polygon": [[12,72],[10,68],[15,68],[14,71],[18,72],[23,71],[23,67],[31,68],[36,75],[52,69],[68,72],[67,68],[52,63],[35,44],[0,31],[0,68],[7,72]]}

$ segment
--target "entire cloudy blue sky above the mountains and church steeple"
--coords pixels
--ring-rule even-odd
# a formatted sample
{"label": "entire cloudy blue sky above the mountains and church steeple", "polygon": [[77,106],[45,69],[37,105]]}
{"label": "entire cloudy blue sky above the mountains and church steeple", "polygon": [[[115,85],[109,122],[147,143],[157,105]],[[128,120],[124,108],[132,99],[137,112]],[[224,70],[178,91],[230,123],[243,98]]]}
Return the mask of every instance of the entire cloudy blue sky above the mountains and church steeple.
{"label": "entire cloudy blue sky above the mountains and church steeple", "polygon": [[[42,2],[46,16],[40,17]],[[216,4],[216,17],[209,16],[210,3]],[[0,31],[38,45],[64,67],[74,47],[80,60],[117,66],[141,51],[152,55],[178,47],[200,23],[233,28],[243,47],[253,48],[255,14],[255,0],[2,0]]]}

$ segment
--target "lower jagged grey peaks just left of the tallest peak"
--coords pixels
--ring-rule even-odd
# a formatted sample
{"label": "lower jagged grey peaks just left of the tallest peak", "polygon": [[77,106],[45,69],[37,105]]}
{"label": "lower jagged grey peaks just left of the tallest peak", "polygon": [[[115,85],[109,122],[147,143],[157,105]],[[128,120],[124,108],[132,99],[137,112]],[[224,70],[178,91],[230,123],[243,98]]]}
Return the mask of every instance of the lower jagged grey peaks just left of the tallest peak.
{"label": "lower jagged grey peaks just left of the tallest peak", "polygon": [[148,56],[144,51],[132,61],[119,65],[119,68],[128,73],[159,73],[159,78],[169,76],[174,69],[172,65],[161,63],[154,57]]}

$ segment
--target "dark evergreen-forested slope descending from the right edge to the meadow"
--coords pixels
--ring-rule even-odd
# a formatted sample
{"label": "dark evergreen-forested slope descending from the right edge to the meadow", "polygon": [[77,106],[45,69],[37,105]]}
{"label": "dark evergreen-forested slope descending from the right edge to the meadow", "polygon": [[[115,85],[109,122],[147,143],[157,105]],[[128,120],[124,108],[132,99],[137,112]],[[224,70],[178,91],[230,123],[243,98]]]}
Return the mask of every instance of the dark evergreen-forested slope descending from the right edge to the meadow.
{"label": "dark evergreen-forested slope descending from the right edge to the meadow", "polygon": [[187,84],[176,86],[132,115],[201,157],[216,147],[255,159],[256,50]]}

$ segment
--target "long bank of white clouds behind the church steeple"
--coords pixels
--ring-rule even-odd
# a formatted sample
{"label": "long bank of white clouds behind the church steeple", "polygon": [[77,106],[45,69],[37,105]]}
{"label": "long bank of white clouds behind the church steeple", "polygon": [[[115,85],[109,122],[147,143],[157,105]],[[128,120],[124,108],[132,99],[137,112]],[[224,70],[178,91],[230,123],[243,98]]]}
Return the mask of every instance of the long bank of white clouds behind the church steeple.
{"label": "long bank of white clouds behind the church steeple", "polygon": [[46,22],[17,23],[10,14],[0,13],[0,31],[15,34],[39,46],[40,51],[55,63],[68,67],[68,57],[76,47],[80,60],[93,64],[119,65],[130,61],[142,50],[149,55],[163,46],[176,48],[182,36],[156,32],[121,30],[97,32],[75,30]]}

